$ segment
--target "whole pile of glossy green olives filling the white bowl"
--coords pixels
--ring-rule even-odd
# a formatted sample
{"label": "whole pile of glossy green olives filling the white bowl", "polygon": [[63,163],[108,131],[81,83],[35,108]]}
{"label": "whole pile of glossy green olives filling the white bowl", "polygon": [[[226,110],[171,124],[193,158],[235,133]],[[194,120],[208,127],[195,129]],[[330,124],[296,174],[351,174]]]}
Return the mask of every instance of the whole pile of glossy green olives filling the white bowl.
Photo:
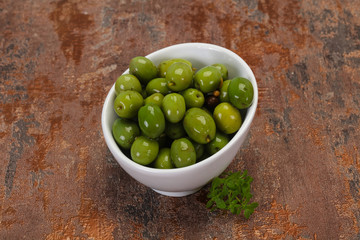
{"label": "whole pile of glossy green olives filling the white bowl", "polygon": [[185,59],[156,66],[140,56],[117,78],[115,92],[115,141],[136,163],[162,169],[190,166],[223,148],[254,95],[248,79],[228,79],[221,63],[196,70]]}

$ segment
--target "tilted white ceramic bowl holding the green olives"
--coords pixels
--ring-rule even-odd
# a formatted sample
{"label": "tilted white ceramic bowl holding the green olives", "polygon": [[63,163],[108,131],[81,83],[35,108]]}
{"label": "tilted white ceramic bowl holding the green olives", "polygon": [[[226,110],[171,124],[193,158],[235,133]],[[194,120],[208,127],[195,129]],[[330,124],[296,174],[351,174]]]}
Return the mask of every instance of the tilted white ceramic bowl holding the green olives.
{"label": "tilted white ceramic bowl holding the green olives", "polygon": [[[155,65],[170,58],[184,58],[200,69],[206,65],[222,63],[227,66],[229,79],[245,77],[254,87],[254,100],[245,120],[231,141],[219,152],[194,165],[176,169],[155,169],[139,165],[126,157],[112,136],[112,124],[117,118],[113,110],[115,84],[108,93],[101,115],[101,124],[108,148],[121,167],[134,179],[167,196],[186,196],[198,191],[214,177],[219,176],[234,159],[243,144],[255,116],[258,103],[258,88],[255,76],[245,61],[234,52],[207,43],[183,43],[160,49],[146,56]],[[129,70],[124,72],[128,73]]]}

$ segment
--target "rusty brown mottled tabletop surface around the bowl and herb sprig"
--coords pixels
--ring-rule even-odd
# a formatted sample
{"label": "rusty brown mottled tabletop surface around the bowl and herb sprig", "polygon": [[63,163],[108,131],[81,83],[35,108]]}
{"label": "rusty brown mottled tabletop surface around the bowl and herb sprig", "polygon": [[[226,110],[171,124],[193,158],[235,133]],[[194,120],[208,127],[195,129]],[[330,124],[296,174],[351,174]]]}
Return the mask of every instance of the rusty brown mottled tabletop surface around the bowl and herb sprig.
{"label": "rusty brown mottled tabletop surface around the bowl and herb sprig", "polygon": [[[114,161],[107,91],[130,59],[208,42],[253,69],[259,106],[229,170],[249,220],[208,186],[161,196]],[[0,0],[0,239],[360,239],[360,2]]]}

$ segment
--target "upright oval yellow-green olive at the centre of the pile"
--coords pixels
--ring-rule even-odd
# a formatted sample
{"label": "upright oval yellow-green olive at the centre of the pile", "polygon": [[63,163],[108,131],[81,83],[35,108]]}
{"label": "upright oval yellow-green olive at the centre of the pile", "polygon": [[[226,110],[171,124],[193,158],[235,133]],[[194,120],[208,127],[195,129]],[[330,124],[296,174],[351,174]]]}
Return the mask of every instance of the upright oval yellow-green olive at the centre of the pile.
{"label": "upright oval yellow-green olive at the centre of the pile", "polygon": [[166,95],[162,101],[161,109],[166,120],[171,123],[180,122],[186,111],[184,97],[178,93],[170,93]]}

